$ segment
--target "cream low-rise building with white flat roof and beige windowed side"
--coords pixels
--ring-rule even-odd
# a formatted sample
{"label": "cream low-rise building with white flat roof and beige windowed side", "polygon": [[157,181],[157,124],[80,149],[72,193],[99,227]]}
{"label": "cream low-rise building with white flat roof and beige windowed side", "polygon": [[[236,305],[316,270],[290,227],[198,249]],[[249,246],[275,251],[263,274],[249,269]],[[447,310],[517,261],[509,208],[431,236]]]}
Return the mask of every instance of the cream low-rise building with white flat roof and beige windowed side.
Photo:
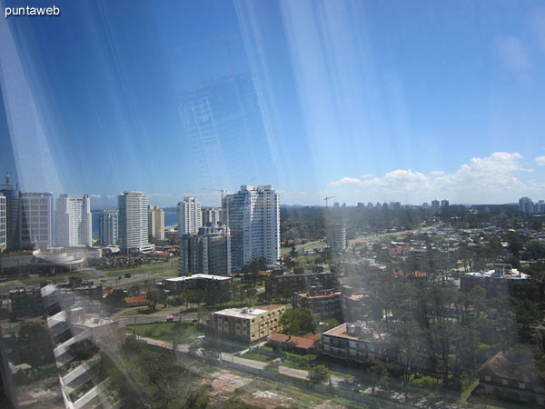
{"label": "cream low-rise building with white flat roof and beige windowed side", "polygon": [[213,313],[213,330],[222,338],[258,344],[278,331],[285,305],[260,308],[228,308]]}

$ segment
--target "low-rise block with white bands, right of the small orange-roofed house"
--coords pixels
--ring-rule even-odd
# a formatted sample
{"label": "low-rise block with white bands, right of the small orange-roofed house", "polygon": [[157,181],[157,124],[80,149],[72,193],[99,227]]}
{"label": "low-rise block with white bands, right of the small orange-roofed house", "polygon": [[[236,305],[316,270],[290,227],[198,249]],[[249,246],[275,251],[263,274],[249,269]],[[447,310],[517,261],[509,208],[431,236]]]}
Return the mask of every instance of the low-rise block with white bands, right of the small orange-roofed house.
{"label": "low-rise block with white bands, right of the small orange-roofed house", "polygon": [[379,356],[380,344],[387,337],[388,334],[379,334],[362,321],[344,323],[322,334],[322,354],[366,363],[387,356],[386,351],[380,351]]}

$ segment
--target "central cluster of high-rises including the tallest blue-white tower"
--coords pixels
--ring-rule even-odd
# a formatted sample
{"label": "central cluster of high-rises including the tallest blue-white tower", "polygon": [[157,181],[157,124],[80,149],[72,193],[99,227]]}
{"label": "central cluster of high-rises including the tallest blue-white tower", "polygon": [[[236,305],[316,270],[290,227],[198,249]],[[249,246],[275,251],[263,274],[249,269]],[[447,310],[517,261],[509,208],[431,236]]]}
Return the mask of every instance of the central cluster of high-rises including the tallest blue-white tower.
{"label": "central cluster of high-rises including the tallest blue-white tower", "polygon": [[[222,209],[201,209],[195,197],[178,205],[180,275],[228,275],[264,257],[280,258],[280,195],[271,185],[242,185]],[[203,223],[204,222],[204,223]]]}

